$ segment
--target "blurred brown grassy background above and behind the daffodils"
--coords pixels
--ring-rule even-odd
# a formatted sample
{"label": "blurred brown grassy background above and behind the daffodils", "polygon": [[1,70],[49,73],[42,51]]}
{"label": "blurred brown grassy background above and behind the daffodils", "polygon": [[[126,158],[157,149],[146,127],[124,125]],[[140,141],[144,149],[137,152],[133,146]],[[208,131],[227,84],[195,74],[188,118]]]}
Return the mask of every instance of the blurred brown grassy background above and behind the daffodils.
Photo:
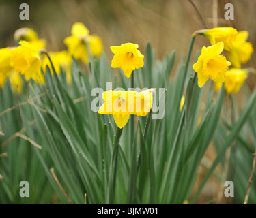
{"label": "blurred brown grassy background above and behind the daffodils", "polygon": [[[21,3],[29,5],[29,20],[19,18]],[[234,20],[224,19],[226,3],[234,5]],[[47,50],[66,50],[63,39],[71,35],[72,24],[83,22],[92,34],[102,37],[109,63],[113,57],[109,47],[126,42],[139,44],[142,53],[150,42],[158,59],[173,49],[179,57],[187,52],[194,31],[212,27],[247,30],[248,42],[256,50],[255,11],[256,1],[252,0],[0,0],[0,48],[14,46],[14,31],[30,27],[38,37],[46,39]],[[197,50],[209,45],[205,37],[198,36],[192,60]],[[256,68],[255,58],[254,53],[243,67]],[[254,76],[250,75],[246,82],[251,89],[255,87]],[[213,160],[214,149],[208,150],[208,158]],[[205,169],[200,170],[199,179]],[[210,199],[218,189],[218,181],[210,180],[205,198]]]}

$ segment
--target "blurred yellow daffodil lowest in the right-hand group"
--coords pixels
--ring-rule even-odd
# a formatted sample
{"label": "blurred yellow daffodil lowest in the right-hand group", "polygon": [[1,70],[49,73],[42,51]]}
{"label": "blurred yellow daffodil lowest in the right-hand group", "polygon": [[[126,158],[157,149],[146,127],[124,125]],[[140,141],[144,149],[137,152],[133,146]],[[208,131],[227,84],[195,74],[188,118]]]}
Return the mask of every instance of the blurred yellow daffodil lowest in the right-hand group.
{"label": "blurred yellow daffodil lowest in the right-hand group", "polygon": [[[224,88],[227,94],[238,93],[242,84],[246,80],[248,72],[246,69],[232,68],[225,74]],[[221,88],[222,83],[216,82],[215,89],[218,91]]]}

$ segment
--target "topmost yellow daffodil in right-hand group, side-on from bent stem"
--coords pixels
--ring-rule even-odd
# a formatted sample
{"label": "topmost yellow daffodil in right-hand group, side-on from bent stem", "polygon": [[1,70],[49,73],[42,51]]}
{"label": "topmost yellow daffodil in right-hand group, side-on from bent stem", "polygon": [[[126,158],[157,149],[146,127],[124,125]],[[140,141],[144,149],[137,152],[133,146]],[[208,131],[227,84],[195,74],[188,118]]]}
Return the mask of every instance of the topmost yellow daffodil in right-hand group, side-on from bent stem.
{"label": "topmost yellow daffodil in right-hand group, side-on from bent stem", "polygon": [[232,27],[217,27],[208,29],[202,33],[205,37],[210,40],[212,45],[223,42],[224,50],[229,51],[233,48],[233,42],[236,40],[238,31]]}

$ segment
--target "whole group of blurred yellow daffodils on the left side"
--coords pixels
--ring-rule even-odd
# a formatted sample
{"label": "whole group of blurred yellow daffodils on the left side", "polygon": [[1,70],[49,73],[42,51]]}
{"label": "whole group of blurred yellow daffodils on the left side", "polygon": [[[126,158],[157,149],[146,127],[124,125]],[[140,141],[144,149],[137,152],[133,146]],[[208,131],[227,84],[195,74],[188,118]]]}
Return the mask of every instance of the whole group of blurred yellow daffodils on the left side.
{"label": "whole group of blurred yellow daffodils on the left side", "polygon": [[[37,84],[44,84],[44,75],[41,67],[46,72],[46,65],[51,63],[46,55],[46,40],[39,39],[38,34],[30,28],[20,28],[14,33],[17,47],[0,49],[0,88],[10,80],[15,93],[22,93],[24,76],[26,81],[33,79]],[[48,52],[57,74],[66,72],[67,82],[71,84],[72,55],[88,63],[88,51],[91,55],[102,55],[102,40],[97,35],[89,35],[89,30],[81,22],[72,26],[72,36],[64,40],[68,51]],[[88,47],[87,47],[88,46]],[[53,69],[51,70],[53,72]]]}

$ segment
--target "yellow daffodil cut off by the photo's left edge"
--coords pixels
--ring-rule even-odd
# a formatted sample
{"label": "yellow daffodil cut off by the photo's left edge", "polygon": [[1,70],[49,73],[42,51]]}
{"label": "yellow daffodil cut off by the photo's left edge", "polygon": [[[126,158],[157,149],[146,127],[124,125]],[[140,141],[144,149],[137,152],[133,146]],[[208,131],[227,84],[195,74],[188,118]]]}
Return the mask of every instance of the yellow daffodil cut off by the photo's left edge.
{"label": "yellow daffodil cut off by the photo's left edge", "polygon": [[10,55],[10,48],[0,49],[0,88],[4,87],[12,69],[12,67],[10,67]]}

